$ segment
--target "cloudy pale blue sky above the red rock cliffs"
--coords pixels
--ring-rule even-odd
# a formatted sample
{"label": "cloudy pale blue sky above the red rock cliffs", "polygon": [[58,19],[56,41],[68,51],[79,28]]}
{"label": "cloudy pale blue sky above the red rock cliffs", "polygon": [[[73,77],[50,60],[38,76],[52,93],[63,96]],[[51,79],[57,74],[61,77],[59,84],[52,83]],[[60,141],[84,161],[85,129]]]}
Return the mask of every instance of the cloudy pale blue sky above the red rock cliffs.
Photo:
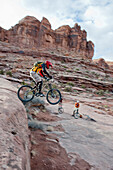
{"label": "cloudy pale blue sky above the red rock cliffs", "polygon": [[113,0],[0,0],[0,26],[10,29],[25,16],[43,17],[55,30],[75,23],[87,32],[93,59],[113,61]]}

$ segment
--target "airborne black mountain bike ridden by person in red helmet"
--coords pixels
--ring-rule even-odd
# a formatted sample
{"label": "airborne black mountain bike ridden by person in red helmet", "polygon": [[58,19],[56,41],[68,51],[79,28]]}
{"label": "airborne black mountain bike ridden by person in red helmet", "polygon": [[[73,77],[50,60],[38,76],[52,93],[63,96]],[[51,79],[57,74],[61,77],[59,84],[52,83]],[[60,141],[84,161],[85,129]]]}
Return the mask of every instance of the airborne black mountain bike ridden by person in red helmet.
{"label": "airborne black mountain bike ridden by person in red helmet", "polygon": [[[42,91],[44,93],[43,97],[44,96],[46,97],[48,103],[55,105],[60,102],[61,93],[58,89],[53,88],[52,84],[49,81],[50,79],[46,80],[43,83],[43,87],[42,87]],[[18,89],[17,96],[22,102],[29,102],[35,96],[40,97],[39,87],[36,85],[36,83],[33,87],[31,85],[23,85]]]}

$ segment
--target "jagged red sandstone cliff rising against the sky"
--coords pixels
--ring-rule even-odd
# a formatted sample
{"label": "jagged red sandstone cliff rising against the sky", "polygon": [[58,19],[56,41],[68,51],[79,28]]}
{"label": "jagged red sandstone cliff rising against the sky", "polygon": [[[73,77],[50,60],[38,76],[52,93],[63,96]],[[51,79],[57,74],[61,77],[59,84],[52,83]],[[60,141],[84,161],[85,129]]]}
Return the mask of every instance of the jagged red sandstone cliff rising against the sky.
{"label": "jagged red sandstone cliff rising against the sky", "polygon": [[57,49],[88,59],[94,54],[94,44],[87,41],[86,31],[82,31],[78,24],[73,28],[64,25],[54,31],[44,17],[40,22],[35,17],[26,16],[10,30],[1,29],[0,40],[20,47]]}

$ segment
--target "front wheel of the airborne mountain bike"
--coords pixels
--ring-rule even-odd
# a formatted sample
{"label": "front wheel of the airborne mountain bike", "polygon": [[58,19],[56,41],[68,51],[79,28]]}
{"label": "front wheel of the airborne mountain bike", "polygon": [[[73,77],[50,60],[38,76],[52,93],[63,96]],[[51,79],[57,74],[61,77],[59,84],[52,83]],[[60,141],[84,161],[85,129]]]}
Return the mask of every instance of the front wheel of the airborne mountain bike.
{"label": "front wheel of the airborne mountain bike", "polygon": [[46,99],[52,105],[58,104],[61,100],[61,93],[58,89],[51,89],[47,92]]}

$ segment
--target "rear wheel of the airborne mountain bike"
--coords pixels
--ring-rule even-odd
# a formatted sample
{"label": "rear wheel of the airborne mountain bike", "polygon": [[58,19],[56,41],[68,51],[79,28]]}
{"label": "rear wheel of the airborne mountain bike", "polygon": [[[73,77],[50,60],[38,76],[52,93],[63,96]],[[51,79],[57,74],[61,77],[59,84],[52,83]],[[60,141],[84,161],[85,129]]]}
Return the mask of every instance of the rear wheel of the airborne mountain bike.
{"label": "rear wheel of the airborne mountain bike", "polygon": [[29,85],[23,85],[18,89],[17,96],[22,102],[29,102],[34,98],[34,90]]}

